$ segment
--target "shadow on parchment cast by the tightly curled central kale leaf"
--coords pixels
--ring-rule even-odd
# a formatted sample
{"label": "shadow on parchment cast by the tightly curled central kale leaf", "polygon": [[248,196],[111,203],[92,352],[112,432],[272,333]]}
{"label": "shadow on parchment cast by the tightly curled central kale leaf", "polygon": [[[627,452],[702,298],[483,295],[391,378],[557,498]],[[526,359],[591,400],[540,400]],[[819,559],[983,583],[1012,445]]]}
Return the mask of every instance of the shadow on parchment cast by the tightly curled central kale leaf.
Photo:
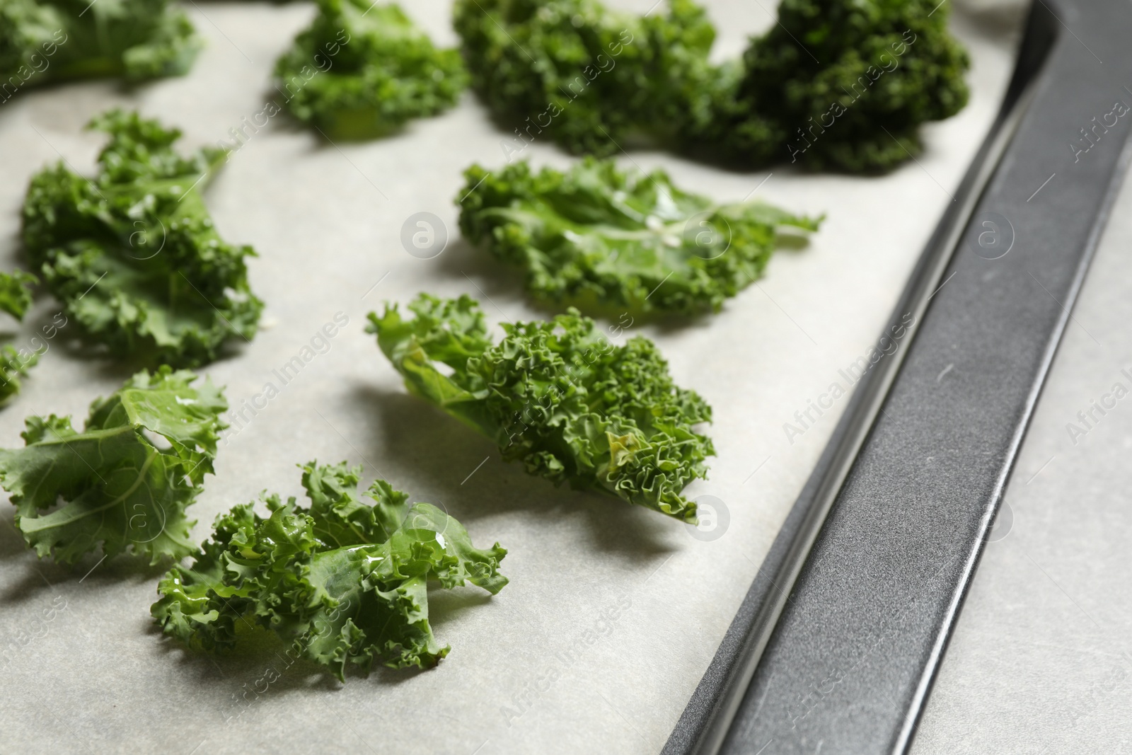
{"label": "shadow on parchment cast by the tightly curled central kale leaf", "polygon": [[[457,520],[522,511],[535,513],[543,526],[557,527],[582,515],[602,550],[637,559],[667,556],[676,549],[675,533],[684,524],[612,496],[571,490],[565,484],[555,488],[526,474],[520,462],[501,462],[491,440],[415,396],[358,384],[352,402],[375,418],[369,427],[377,435],[367,441],[374,456],[410,470],[412,478],[429,480],[429,494],[438,496]],[[362,451],[369,455],[367,447]],[[428,499],[423,491],[406,492],[410,500]]]}

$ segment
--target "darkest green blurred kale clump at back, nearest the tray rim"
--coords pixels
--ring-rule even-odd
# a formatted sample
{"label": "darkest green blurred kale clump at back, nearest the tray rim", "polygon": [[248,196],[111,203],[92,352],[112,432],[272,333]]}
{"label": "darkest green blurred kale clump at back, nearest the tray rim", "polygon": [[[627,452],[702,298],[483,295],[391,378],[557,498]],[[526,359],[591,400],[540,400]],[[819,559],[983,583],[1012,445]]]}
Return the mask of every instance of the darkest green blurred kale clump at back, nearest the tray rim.
{"label": "darkest green blurred kale clump at back, nearest the tray rim", "polygon": [[778,20],[741,79],[717,80],[703,121],[701,139],[732,157],[883,171],[923,149],[921,123],[967,104],[969,60],[933,0],[783,0]]}

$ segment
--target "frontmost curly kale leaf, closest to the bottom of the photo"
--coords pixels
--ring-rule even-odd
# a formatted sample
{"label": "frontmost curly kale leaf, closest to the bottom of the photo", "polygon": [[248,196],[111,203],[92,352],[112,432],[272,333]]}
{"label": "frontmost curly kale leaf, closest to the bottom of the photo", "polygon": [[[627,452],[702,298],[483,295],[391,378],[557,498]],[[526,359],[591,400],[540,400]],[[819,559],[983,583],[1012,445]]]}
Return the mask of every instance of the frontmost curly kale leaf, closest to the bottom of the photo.
{"label": "frontmost curly kale leaf, closest to the bottom of the photo", "polygon": [[354,664],[436,666],[447,655],[428,621],[428,583],[471,583],[496,594],[507,584],[496,543],[475,548],[454,518],[384,480],[359,488],[361,467],[303,466],[310,508],[264,500],[217,517],[190,568],[161,581],[152,614],[165,634],[212,651],[235,646],[240,621],[291,643],[297,657],[338,679]]}

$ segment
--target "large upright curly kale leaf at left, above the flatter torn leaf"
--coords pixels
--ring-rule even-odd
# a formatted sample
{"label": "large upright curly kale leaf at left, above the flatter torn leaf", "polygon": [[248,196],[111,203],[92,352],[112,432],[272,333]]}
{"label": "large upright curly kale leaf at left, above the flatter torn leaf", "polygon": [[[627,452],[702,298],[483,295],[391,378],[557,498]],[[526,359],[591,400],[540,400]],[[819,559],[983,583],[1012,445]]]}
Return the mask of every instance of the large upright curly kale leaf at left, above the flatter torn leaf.
{"label": "large upright curly kale leaf at left, above the flatter torn leaf", "polygon": [[263,310],[245,261],[255,251],[220,238],[198,191],[224,153],[179,155],[180,131],[137,113],[113,110],[91,128],[111,137],[95,178],[60,163],[32,179],[29,266],[113,353],[197,367],[232,336],[250,340]]}

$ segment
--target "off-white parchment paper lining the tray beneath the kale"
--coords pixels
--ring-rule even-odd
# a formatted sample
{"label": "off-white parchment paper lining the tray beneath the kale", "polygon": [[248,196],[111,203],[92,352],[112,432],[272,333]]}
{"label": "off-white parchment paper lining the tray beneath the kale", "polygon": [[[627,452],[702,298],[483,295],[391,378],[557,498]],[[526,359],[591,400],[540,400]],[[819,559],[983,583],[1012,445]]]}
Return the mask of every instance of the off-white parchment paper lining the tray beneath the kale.
{"label": "off-white parchment paper lining the tray beneath the kale", "polygon": [[[772,23],[748,3],[706,5],[719,55],[737,54],[746,35]],[[447,2],[406,10],[438,42],[455,43]],[[0,105],[0,249],[9,266],[18,260],[29,175],[60,155],[92,170],[100,139],[80,131],[91,115],[137,106],[182,128],[186,148],[230,140],[229,129],[278,97],[271,67],[312,8],[200,2],[189,12],[207,48],[185,78],[134,91],[59,86]],[[349,325],[266,409],[229,432],[217,473],[190,509],[195,534],[206,537],[217,513],[265,488],[299,495],[297,463],[349,460],[366,465],[367,482],[380,474],[414,500],[445,506],[475,542],[498,540],[509,550],[503,570],[512,582],[495,598],[473,587],[432,593],[434,627],[453,647],[438,669],[338,684],[312,667],[286,666],[266,635],[230,657],[186,652],[148,616],[158,570],[130,559],[94,557],[74,569],[40,563],[10,526],[9,509],[0,514],[0,641],[19,652],[0,671],[0,749],[658,752],[846,400],[801,434],[788,437],[784,423],[799,427],[795,412],[834,384],[850,387],[852,366],[874,345],[1005,88],[1011,27],[961,16],[953,26],[971,52],[971,103],[927,127],[927,152],[887,177],[736,173],[652,152],[620,157],[624,166],[663,166],[677,185],[721,200],[754,195],[829,213],[807,248],[779,252],[767,276],[720,315],[681,329],[635,325],[620,336],[654,338],[676,380],[715,409],[719,455],[710,479],[687,490],[727,511],[727,524],[709,539],[501,463],[491,443],[406,395],[362,333],[367,311],[421,290],[470,293],[492,321],[546,315],[525,302],[516,275],[458,239],[452,198],[461,171],[505,160],[506,134],[471,94],[447,114],[360,145],[326,144],[284,115],[272,119],[205,195],[224,238],[260,255],[250,275],[267,303],[265,328],[204,371],[239,406],[335,314]],[[524,156],[537,165],[572,160],[548,144]],[[401,244],[403,224],[420,212],[448,231],[434,259]],[[50,299],[40,301],[12,328],[16,341],[55,311]],[[60,340],[0,412],[0,444],[22,445],[25,415],[85,415],[125,377],[120,366],[83,359]]]}

